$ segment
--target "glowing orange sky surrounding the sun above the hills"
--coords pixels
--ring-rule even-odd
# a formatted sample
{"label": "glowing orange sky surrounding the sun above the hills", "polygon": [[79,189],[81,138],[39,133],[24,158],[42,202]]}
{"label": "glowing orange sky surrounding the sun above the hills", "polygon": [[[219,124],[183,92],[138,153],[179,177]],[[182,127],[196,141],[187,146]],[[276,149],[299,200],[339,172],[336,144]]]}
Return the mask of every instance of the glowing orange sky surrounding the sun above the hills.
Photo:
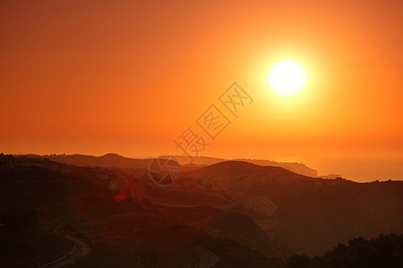
{"label": "glowing orange sky surrounding the sun above the hills", "polygon": [[[236,81],[253,104],[216,140],[205,135],[203,155],[403,180],[402,10],[401,1],[2,1],[0,151],[180,154],[173,139]],[[281,60],[308,73],[296,96],[267,85]]]}

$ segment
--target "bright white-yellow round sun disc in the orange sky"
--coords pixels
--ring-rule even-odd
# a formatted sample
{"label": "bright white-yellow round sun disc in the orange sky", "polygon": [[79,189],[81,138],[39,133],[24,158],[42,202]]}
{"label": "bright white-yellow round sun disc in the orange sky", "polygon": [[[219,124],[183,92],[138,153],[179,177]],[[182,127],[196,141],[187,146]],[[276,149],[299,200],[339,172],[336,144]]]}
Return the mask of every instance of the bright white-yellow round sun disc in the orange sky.
{"label": "bright white-yellow round sun disc in the orange sky", "polygon": [[305,87],[308,76],[301,64],[282,61],[271,67],[267,80],[277,94],[294,96]]}

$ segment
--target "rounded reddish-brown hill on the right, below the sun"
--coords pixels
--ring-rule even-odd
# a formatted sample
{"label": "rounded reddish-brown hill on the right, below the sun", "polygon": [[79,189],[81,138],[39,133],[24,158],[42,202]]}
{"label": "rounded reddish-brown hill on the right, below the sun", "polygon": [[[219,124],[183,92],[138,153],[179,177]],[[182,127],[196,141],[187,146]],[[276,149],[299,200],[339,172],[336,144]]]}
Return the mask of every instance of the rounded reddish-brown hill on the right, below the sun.
{"label": "rounded reddish-brown hill on the right, below the sun", "polygon": [[403,232],[403,181],[323,180],[279,167],[225,162],[184,174],[221,191],[272,238],[294,252],[324,253],[353,237]]}

